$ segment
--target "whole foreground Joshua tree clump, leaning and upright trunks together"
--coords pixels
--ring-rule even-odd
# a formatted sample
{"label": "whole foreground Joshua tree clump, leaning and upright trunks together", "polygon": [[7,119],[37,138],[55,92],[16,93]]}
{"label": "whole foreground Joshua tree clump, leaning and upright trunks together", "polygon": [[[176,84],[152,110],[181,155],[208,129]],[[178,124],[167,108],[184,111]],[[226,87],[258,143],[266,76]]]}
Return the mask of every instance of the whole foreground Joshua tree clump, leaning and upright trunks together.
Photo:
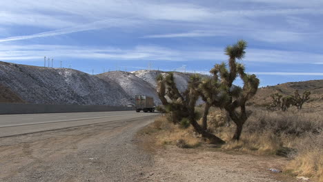
{"label": "whole foreground Joshua tree clump, leaning and upright trunks together", "polygon": [[[206,130],[207,114],[210,107],[224,108],[231,120],[237,125],[233,139],[239,140],[242,126],[248,119],[246,101],[255,95],[259,85],[259,79],[255,74],[246,74],[244,65],[236,62],[236,59],[244,58],[245,49],[246,41],[241,40],[235,45],[229,45],[226,48],[226,54],[229,57],[229,70],[226,68],[226,63],[222,63],[215,65],[210,71],[213,78],[206,78],[201,81],[199,77],[194,75],[190,78],[188,89],[183,94],[180,94],[177,90],[173,74],[170,73],[166,77],[162,75],[157,77],[159,98],[166,110],[171,112],[174,123],[183,118],[188,118],[190,124],[202,136],[211,139],[214,143],[224,143],[222,139]],[[233,81],[238,76],[244,82],[242,88],[233,85]],[[195,103],[199,96],[206,102],[202,127],[195,119]],[[237,111],[238,108],[239,111]]]}

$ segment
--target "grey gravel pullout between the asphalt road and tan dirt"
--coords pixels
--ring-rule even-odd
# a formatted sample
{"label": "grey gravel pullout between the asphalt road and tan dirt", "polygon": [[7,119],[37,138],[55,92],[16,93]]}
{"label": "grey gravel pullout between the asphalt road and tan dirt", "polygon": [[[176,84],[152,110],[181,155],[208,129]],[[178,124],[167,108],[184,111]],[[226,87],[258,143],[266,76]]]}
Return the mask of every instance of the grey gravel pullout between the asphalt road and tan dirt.
{"label": "grey gravel pullout between the asphalt road and tan dirt", "polygon": [[0,181],[141,181],[153,165],[135,145],[153,117],[0,139]]}

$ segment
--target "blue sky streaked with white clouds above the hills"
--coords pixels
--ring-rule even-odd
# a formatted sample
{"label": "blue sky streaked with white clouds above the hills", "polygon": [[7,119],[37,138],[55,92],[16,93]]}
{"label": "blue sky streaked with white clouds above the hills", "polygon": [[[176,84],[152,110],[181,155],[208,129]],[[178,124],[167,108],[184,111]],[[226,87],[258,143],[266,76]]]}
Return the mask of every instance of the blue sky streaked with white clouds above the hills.
{"label": "blue sky streaked with white clouds above the hills", "polygon": [[1,0],[0,61],[208,74],[244,39],[260,86],[323,79],[322,19],[322,0]]}

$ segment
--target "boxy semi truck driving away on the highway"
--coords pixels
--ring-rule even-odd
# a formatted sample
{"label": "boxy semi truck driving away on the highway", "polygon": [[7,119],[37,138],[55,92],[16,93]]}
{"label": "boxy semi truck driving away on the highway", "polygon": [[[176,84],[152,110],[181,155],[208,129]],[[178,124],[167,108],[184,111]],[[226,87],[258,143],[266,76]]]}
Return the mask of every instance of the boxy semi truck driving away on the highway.
{"label": "boxy semi truck driving away on the highway", "polygon": [[146,95],[136,95],[136,112],[141,110],[144,112],[155,112],[155,103],[153,97],[148,97]]}

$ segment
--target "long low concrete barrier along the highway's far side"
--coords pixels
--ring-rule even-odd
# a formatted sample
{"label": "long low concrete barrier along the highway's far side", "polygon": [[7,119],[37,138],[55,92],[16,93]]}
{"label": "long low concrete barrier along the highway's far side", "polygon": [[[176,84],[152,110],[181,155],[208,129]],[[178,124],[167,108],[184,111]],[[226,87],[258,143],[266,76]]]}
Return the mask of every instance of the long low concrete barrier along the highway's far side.
{"label": "long low concrete barrier along the highway's far side", "polygon": [[0,114],[35,114],[59,112],[104,112],[135,110],[135,107],[108,105],[51,105],[32,103],[0,103]]}

